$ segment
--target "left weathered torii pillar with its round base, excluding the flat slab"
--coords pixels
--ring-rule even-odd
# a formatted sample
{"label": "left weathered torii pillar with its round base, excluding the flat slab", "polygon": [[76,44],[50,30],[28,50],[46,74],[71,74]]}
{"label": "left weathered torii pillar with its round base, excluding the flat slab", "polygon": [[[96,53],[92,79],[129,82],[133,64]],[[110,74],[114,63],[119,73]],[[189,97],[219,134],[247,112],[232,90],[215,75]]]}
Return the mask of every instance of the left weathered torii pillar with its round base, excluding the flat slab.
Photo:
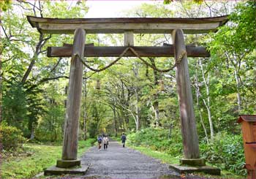
{"label": "left weathered torii pillar with its round base, excluding the flat slab", "polygon": [[67,168],[80,165],[80,161],[77,160],[80,99],[83,80],[83,64],[80,58],[83,59],[85,41],[86,31],[81,28],[76,29],[69,73],[62,160],[57,161],[57,167]]}

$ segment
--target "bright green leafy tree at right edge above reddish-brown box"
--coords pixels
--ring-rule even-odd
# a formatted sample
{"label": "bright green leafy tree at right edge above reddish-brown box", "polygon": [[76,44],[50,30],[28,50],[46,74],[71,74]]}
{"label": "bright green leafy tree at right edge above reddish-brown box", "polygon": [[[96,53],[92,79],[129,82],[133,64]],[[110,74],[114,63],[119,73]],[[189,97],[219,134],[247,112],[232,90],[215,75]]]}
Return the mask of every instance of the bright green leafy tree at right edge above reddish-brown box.
{"label": "bright green leafy tree at right edge above reddish-brown box", "polygon": [[206,39],[211,51],[208,71],[216,69],[217,77],[221,78],[220,88],[214,90],[214,94],[246,96],[246,99],[241,97],[241,111],[236,110],[238,99],[230,102],[236,114],[253,113],[254,109],[250,99],[255,99],[255,94],[249,91],[255,86],[255,79],[250,76],[255,72],[255,12],[255,1],[239,3],[230,14],[228,26],[220,27],[216,34],[209,34]]}

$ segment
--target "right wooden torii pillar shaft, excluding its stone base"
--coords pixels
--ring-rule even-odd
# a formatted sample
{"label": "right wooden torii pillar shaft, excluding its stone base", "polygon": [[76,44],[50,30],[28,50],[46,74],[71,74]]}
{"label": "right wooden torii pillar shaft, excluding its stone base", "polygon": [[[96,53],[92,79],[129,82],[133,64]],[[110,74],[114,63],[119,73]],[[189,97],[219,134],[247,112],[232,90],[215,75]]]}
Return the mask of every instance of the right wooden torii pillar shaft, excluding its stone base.
{"label": "right wooden torii pillar shaft, excluding its stone base", "polygon": [[195,125],[195,114],[184,35],[181,29],[173,30],[172,35],[174,56],[176,61],[181,60],[180,64],[176,66],[176,84],[181,115],[181,134],[184,146],[184,157],[185,159],[199,159],[199,144]]}

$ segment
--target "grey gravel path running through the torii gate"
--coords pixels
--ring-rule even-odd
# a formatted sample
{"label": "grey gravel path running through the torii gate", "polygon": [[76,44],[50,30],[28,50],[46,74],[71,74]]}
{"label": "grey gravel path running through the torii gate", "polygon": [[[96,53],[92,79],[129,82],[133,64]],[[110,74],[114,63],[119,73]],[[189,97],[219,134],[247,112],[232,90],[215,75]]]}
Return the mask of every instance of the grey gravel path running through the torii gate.
{"label": "grey gravel path running through the torii gate", "polygon": [[110,141],[106,151],[98,151],[94,146],[80,159],[89,170],[79,178],[179,178],[168,164],[131,148],[123,148],[116,141]]}

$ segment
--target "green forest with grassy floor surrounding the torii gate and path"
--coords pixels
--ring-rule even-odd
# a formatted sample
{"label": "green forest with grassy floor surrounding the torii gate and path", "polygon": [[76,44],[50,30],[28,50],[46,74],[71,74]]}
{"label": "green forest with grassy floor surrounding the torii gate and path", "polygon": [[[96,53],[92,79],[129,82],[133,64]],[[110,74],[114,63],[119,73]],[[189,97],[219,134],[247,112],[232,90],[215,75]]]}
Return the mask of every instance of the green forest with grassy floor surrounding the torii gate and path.
{"label": "green forest with grassy floor surrounding the torii gate and path", "polygon": [[[32,178],[60,157],[67,107],[70,58],[48,58],[47,47],[72,44],[73,35],[39,34],[26,15],[86,18],[89,7],[87,1],[5,0],[0,4],[1,178]],[[256,111],[255,1],[145,1],[121,13],[123,18],[222,15],[228,15],[228,21],[216,33],[185,34],[186,45],[207,47],[211,54],[188,58],[189,77],[200,155],[228,178],[244,178],[244,146],[237,120]],[[172,44],[171,34],[135,34],[134,40],[136,46]],[[123,43],[123,34],[86,36],[86,44],[94,46]],[[102,71],[116,58],[85,59],[90,68],[83,68],[78,153],[94,145],[98,134],[120,140],[125,132],[127,145],[149,156],[172,163],[183,155],[176,69],[170,68],[174,58],[144,59],[149,65],[124,57]],[[49,159],[37,160],[39,155]],[[40,164],[36,167],[33,162]],[[22,171],[19,166],[26,164],[31,164],[30,169]]]}

